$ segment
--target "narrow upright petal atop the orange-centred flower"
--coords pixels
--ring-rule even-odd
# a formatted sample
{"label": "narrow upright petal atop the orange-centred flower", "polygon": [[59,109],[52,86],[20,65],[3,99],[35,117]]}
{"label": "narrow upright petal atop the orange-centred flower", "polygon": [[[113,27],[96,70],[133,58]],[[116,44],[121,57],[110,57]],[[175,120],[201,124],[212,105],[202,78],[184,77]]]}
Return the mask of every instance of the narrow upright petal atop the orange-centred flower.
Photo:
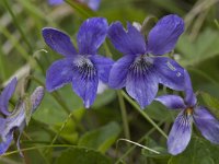
{"label": "narrow upright petal atop the orange-centred flower", "polygon": [[189,106],[195,106],[197,99],[193,92],[191,77],[186,70],[184,70],[184,90],[185,90],[185,103]]}

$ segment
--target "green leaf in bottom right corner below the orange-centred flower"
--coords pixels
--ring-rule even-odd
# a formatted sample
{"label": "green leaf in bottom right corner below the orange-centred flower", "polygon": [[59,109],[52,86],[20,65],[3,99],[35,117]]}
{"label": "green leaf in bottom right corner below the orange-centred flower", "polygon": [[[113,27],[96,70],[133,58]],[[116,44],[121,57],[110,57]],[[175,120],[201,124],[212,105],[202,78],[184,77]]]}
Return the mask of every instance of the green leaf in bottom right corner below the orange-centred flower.
{"label": "green leaf in bottom right corner below the orange-centred flower", "polygon": [[169,164],[218,164],[219,147],[209,141],[194,137],[186,150],[169,160]]}

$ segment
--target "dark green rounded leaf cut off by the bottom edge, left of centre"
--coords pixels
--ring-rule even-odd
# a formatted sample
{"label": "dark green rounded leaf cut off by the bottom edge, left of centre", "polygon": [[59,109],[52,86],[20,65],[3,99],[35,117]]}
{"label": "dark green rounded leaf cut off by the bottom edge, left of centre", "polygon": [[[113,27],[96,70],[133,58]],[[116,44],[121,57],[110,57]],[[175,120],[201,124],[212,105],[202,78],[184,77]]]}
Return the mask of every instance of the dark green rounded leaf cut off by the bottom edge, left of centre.
{"label": "dark green rounded leaf cut off by the bottom edge, left of centre", "polygon": [[112,161],[100,152],[84,148],[73,148],[64,151],[56,164],[111,164]]}

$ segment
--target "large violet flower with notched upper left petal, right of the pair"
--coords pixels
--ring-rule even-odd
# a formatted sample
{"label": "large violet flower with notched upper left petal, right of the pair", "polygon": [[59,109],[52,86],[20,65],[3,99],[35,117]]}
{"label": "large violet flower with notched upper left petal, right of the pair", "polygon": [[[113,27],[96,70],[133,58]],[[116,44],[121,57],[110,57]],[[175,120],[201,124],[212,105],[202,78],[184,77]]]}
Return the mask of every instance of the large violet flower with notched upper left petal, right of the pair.
{"label": "large violet flower with notched upper left petal, right of the pair", "polygon": [[114,63],[108,85],[113,89],[126,86],[127,93],[141,108],[154,99],[159,83],[183,90],[184,69],[168,57],[159,57],[173,50],[183,32],[184,21],[174,14],[162,17],[147,40],[131,24],[128,23],[125,31],[119,22],[113,23],[108,37],[124,57]]}

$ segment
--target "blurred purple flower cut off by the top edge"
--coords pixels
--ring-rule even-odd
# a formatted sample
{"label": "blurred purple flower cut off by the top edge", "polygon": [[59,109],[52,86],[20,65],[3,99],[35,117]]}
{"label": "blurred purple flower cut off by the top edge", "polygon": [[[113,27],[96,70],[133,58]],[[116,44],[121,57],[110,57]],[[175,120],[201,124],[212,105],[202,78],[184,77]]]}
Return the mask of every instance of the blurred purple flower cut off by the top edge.
{"label": "blurred purple flower cut off by the top edge", "polygon": [[[99,9],[99,5],[101,3],[101,0],[77,0],[80,3],[87,3],[89,8],[96,11]],[[50,5],[59,5],[64,3],[64,0],[48,0],[48,3]]]}

